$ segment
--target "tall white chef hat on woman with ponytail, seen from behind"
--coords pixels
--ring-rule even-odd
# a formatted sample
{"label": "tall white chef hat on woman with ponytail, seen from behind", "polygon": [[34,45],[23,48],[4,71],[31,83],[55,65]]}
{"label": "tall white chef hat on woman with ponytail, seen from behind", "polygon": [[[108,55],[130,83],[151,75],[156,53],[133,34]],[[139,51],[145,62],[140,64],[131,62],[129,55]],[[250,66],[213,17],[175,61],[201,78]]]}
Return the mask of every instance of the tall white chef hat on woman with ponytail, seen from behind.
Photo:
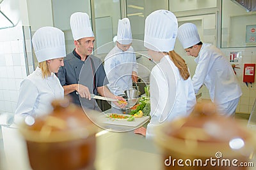
{"label": "tall white chef hat on woman with ponytail, seen from behind", "polygon": [[154,11],[146,18],[144,46],[156,52],[172,51],[177,30],[177,18],[171,11]]}

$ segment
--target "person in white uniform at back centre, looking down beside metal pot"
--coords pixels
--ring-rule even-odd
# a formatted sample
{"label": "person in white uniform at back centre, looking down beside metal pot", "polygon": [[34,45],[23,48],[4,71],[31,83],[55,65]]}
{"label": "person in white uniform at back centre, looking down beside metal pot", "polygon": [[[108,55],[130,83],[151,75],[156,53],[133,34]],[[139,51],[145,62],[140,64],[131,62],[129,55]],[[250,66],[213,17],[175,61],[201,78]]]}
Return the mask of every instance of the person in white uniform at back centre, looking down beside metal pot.
{"label": "person in white uniform at back centre, looking down beside metal pot", "polygon": [[132,48],[132,32],[128,18],[118,21],[116,46],[104,59],[108,87],[115,95],[124,94],[138,80],[138,64]]}

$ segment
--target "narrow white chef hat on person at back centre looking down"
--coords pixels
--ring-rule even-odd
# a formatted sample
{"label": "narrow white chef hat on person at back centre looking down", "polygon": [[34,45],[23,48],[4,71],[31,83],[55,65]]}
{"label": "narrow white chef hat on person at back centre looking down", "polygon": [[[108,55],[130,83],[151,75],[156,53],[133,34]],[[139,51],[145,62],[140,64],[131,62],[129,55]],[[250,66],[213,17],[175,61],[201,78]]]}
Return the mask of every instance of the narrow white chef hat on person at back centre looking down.
{"label": "narrow white chef hat on person at back centre looking down", "polygon": [[128,18],[118,20],[116,41],[122,45],[129,45],[132,43],[132,30]]}

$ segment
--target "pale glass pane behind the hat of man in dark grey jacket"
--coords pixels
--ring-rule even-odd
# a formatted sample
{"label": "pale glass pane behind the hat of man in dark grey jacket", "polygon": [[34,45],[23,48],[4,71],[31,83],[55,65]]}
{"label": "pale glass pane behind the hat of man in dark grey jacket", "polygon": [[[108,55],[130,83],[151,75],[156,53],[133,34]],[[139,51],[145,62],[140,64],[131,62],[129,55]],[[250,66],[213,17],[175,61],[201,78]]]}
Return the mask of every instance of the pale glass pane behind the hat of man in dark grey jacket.
{"label": "pale glass pane behind the hat of man in dark grey jacket", "polygon": [[54,27],[64,32],[67,53],[72,52],[75,48],[70,29],[70,16],[75,12],[86,12],[92,18],[90,0],[52,0]]}

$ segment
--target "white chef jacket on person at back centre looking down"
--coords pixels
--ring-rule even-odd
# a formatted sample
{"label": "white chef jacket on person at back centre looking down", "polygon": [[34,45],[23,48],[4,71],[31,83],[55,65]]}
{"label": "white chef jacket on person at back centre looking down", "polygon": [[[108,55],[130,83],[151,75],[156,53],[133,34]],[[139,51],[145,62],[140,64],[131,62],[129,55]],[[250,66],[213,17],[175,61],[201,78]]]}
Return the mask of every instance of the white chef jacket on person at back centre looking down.
{"label": "white chef jacket on person at back centre looking down", "polygon": [[115,46],[104,59],[108,88],[115,95],[132,88],[132,71],[138,74],[138,64],[132,46],[123,52]]}

